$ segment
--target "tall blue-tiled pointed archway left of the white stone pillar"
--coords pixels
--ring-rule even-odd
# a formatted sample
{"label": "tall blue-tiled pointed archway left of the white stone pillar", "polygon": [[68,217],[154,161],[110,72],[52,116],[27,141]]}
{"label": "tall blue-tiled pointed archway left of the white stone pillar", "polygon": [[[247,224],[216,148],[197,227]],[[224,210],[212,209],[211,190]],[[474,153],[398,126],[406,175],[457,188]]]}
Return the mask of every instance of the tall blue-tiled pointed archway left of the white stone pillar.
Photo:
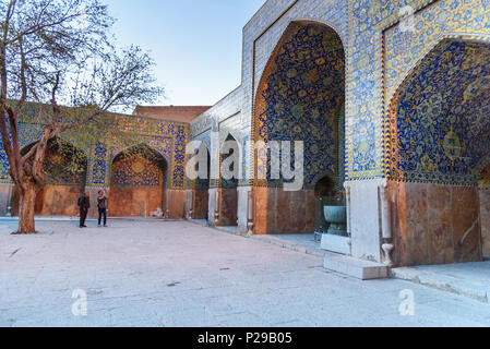
{"label": "tall blue-tiled pointed archway left of the white stone pillar", "polygon": [[[313,232],[314,185],[323,176],[343,196],[345,50],[331,27],[294,22],[264,70],[255,100],[254,139],[304,142],[301,190],[286,192],[271,176],[271,158],[255,154],[255,233]],[[342,160],[340,160],[342,158]],[[267,179],[259,179],[259,167]]]}

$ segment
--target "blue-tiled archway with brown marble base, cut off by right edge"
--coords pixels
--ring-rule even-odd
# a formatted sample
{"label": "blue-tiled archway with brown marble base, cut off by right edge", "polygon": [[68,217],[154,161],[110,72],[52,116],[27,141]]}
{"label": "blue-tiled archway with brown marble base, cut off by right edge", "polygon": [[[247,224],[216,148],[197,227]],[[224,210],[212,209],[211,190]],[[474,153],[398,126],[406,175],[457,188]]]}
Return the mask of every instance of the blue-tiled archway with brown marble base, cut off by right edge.
{"label": "blue-tiled archway with brown marble base, cut off by right edge", "polygon": [[481,260],[489,61],[488,44],[445,39],[393,98],[385,160],[401,265]]}

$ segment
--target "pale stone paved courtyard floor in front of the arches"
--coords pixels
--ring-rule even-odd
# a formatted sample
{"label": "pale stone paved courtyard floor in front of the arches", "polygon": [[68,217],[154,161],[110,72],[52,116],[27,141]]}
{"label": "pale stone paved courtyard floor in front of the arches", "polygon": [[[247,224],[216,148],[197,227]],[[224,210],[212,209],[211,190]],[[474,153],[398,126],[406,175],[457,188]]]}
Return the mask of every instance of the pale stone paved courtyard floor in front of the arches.
{"label": "pale stone paved courtyard floor in front of the arches", "polygon": [[[91,222],[93,227],[93,222]],[[0,221],[1,326],[490,326],[490,305],[403,280],[360,281],[322,258],[191,222]],[[74,316],[73,291],[87,294]],[[415,313],[399,313],[401,291]],[[406,292],[406,291],[405,291]]]}

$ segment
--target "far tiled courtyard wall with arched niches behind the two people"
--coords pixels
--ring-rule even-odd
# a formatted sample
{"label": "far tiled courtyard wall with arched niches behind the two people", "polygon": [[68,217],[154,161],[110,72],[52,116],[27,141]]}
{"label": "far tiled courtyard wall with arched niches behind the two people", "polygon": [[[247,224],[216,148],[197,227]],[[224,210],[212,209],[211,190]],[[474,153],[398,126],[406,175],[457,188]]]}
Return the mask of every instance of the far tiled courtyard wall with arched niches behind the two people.
{"label": "far tiled courtyard wall with arched niches behind the two people", "polygon": [[[35,115],[35,106],[26,108],[26,116]],[[77,198],[83,192],[91,194],[89,217],[97,216],[97,193],[103,190],[109,196],[108,214],[111,217],[183,218],[186,204],[186,144],[189,123],[169,117],[195,118],[208,107],[160,107],[151,117],[109,115],[121,124],[121,136],[110,133],[94,144],[76,134],[61,139],[63,151],[56,144],[49,147],[45,161],[46,180],[37,195],[36,215],[77,216]],[[154,108],[139,107],[143,115]],[[162,119],[164,115],[166,119]],[[43,124],[29,118],[19,124],[24,152],[43,132]],[[167,120],[168,119],[168,120]],[[132,134],[135,134],[134,136]],[[73,163],[76,160],[76,166]],[[8,173],[8,159],[0,152],[0,212],[17,215],[19,194]],[[76,170],[75,170],[76,169]],[[159,212],[159,214],[158,214]]]}

